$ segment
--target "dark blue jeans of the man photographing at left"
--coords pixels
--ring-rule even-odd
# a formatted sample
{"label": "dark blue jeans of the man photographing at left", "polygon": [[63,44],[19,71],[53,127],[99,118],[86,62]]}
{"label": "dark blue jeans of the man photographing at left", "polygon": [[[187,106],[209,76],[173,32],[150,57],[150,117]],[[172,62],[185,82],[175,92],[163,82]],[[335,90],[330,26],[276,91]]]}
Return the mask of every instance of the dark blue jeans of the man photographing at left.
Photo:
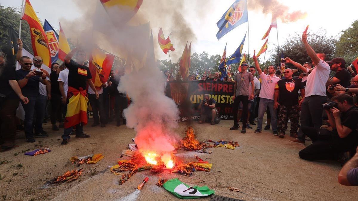
{"label": "dark blue jeans of the man photographing at left", "polygon": [[45,106],[47,101],[47,96],[38,95],[38,96],[27,96],[29,99],[28,104],[21,102],[24,111],[25,111],[25,120],[24,120],[24,130],[26,138],[34,136],[34,113],[36,112],[35,119],[35,133],[40,133],[42,129],[42,122],[45,114]]}

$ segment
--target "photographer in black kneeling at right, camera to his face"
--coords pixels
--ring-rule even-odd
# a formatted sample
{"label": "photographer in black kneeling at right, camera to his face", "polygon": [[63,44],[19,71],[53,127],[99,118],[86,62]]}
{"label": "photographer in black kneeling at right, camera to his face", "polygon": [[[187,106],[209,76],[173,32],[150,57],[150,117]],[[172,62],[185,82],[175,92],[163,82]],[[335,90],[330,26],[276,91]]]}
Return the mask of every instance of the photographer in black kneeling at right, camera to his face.
{"label": "photographer in black kneeling at right, camera to his face", "polygon": [[354,150],[358,145],[358,110],[353,106],[353,98],[348,94],[339,94],[333,102],[323,105],[332,131],[303,126],[302,131],[313,141],[299,152],[305,160],[334,160],[346,151]]}

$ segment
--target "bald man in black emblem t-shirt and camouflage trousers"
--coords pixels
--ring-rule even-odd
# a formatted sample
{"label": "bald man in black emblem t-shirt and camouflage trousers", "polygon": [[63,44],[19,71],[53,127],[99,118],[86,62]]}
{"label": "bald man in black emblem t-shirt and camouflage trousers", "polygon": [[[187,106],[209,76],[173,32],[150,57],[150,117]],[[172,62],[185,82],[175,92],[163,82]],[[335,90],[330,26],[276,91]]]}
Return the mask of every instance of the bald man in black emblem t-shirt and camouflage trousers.
{"label": "bald man in black emblem t-shirt and camouflage trousers", "polygon": [[[275,87],[274,95],[274,108],[279,108],[279,118],[277,119],[277,131],[279,137],[285,136],[287,121],[290,117],[291,130],[290,136],[296,138],[298,121],[300,119],[300,106],[305,97],[305,89],[301,82],[301,79],[292,78],[292,70],[290,68],[285,69],[285,79],[279,80]],[[302,99],[298,102],[298,91],[300,90]],[[280,105],[280,107],[279,107]]]}

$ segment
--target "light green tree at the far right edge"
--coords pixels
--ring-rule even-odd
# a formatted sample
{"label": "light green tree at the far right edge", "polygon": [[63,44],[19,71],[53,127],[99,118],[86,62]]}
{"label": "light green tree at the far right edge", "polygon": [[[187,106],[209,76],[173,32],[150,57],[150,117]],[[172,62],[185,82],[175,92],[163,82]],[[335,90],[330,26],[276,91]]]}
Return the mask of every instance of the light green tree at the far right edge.
{"label": "light green tree at the far right edge", "polygon": [[347,64],[350,64],[358,57],[358,20],[348,29],[342,30],[342,33],[336,43],[335,57],[343,57]]}

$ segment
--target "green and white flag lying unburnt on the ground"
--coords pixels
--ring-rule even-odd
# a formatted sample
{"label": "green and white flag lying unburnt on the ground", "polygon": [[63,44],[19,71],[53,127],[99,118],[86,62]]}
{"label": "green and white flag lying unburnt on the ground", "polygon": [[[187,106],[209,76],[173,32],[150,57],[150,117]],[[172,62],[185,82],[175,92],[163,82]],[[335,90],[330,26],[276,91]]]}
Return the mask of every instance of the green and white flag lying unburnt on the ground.
{"label": "green and white flag lying unburnt on the ground", "polygon": [[168,180],[163,184],[163,187],[165,190],[173,193],[176,197],[182,199],[199,198],[214,194],[214,190],[211,190],[208,186],[192,187],[181,182],[178,178]]}

